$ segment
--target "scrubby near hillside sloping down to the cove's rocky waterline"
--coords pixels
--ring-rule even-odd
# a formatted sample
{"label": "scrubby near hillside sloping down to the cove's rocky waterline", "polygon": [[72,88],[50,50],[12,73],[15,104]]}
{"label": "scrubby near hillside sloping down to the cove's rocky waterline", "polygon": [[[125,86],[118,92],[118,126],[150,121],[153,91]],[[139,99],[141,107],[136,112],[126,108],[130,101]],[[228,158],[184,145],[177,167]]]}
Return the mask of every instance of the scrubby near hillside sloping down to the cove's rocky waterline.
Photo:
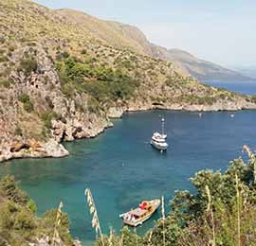
{"label": "scrubby near hillside sloping down to the cove's rocky waterline", "polygon": [[120,26],[129,37],[133,27],[94,20],[100,37],[83,21],[92,17],[65,11],[0,2],[0,161],[67,155],[63,141],[94,137],[125,111],[256,108],[255,98],[200,84],[128,38],[134,51],[109,44],[123,38]]}

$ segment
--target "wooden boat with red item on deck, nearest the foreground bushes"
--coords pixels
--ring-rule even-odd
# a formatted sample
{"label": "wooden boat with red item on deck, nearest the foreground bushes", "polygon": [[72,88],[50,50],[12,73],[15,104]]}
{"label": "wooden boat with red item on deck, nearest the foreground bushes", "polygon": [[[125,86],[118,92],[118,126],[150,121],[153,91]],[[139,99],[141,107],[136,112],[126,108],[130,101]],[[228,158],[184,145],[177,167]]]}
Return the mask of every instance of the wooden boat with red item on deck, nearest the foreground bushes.
{"label": "wooden boat with red item on deck, nearest the foreground bushes", "polygon": [[155,199],[152,201],[143,201],[136,209],[121,214],[119,215],[119,217],[123,220],[124,224],[137,227],[138,225],[141,225],[144,221],[151,218],[160,203],[161,202],[159,199]]}

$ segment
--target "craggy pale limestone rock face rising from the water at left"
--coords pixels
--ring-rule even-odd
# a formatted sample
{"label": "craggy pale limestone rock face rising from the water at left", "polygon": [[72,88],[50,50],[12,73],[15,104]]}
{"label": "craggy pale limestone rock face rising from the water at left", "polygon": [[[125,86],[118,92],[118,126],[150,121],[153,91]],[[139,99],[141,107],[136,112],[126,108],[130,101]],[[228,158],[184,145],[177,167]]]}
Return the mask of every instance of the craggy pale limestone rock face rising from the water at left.
{"label": "craggy pale limestone rock face rising from the water at left", "polygon": [[[95,137],[112,126],[105,114],[87,110],[86,94],[64,97],[58,73],[43,46],[15,50],[13,62],[23,60],[24,54],[37,62],[38,70],[29,76],[13,70],[10,77],[15,83],[0,90],[0,162],[12,158],[63,157],[68,151],[61,142]],[[21,95],[29,97],[32,112],[25,110]],[[77,105],[83,106],[78,110]],[[47,123],[50,130],[44,136],[44,114],[52,112],[60,119]]]}

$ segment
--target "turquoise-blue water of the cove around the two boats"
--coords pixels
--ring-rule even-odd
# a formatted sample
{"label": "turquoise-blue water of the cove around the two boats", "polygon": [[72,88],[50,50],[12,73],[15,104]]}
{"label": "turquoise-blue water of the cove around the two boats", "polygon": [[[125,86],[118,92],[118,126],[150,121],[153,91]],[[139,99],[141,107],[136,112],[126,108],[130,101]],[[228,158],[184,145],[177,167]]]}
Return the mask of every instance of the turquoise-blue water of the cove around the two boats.
{"label": "turquoise-blue water of the cove around the two boats", "polygon": [[[159,153],[149,145],[166,118],[170,149]],[[230,117],[234,114],[234,118]],[[71,232],[85,246],[95,238],[84,202],[90,187],[97,203],[103,231],[119,231],[119,214],[144,199],[164,195],[170,200],[176,189],[192,189],[189,178],[203,168],[225,170],[242,155],[244,144],[256,145],[256,111],[198,113],[152,111],[125,114],[115,127],[99,137],[66,144],[71,155],[63,159],[13,160],[0,166],[1,175],[13,174],[37,202],[39,214],[64,202]],[[138,228],[143,233],[154,217]]]}

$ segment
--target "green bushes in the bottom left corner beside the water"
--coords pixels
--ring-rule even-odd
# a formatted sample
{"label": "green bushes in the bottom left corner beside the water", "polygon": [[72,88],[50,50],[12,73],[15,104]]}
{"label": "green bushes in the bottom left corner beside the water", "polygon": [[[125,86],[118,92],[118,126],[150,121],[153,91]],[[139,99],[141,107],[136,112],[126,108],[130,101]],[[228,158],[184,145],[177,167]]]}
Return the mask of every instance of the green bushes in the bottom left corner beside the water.
{"label": "green bushes in the bottom left corner beside the water", "polygon": [[[43,218],[35,215],[36,205],[20,190],[13,177],[0,181],[0,245],[20,246],[36,242],[44,237],[50,238],[53,245],[54,232],[59,235],[62,245],[71,246],[69,220],[60,208],[47,211]],[[56,218],[60,223],[56,223]],[[58,232],[58,233],[56,233]],[[56,244],[59,245],[59,244]]]}

